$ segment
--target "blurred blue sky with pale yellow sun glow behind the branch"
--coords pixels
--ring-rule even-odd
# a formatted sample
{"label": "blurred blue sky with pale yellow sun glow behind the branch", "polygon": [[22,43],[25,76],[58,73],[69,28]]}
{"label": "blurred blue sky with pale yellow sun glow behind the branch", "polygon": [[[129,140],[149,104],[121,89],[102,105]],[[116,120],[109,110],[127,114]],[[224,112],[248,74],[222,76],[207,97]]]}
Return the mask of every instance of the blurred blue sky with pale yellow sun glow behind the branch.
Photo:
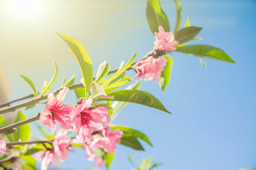
{"label": "blurred blue sky with pale yellow sun glow behind the branch", "polygon": [[[174,30],[174,1],[162,0],[161,4]],[[181,0],[181,4],[182,26],[191,14],[191,26],[203,27],[198,35],[203,40],[188,43],[220,47],[237,63],[205,59],[203,67],[197,57],[173,52],[174,67],[166,91],[161,92],[154,81],[143,81],[141,87],[173,114],[127,105],[114,124],[141,130],[154,147],[142,142],[146,152],[137,152],[119,145],[110,169],[132,169],[127,154],[134,159],[154,156],[153,162],[163,163],[158,169],[166,170],[256,169],[256,1]],[[59,74],[51,90],[72,74],[79,82],[75,57],[56,31],[84,45],[95,72],[104,60],[115,69],[135,51],[139,59],[154,46],[146,21],[146,0],[1,0],[0,21],[1,74],[9,81],[5,85],[6,91],[11,90],[9,99],[31,94],[19,74],[30,77],[41,89],[54,72],[53,60]],[[134,77],[135,73],[128,75]],[[4,82],[1,80],[2,85]],[[73,91],[65,103],[75,103]],[[31,117],[42,109],[39,105],[25,113]],[[75,149],[63,169],[91,165],[85,151]]]}

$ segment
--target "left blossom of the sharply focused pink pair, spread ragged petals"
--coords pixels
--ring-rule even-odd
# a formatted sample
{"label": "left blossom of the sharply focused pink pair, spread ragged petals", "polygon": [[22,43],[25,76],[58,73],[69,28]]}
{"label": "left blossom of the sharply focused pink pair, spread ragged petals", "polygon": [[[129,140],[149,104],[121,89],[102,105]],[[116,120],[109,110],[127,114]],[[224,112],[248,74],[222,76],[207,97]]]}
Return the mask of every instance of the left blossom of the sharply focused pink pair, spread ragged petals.
{"label": "left blossom of the sharply focused pink pair, spread ragged petals", "polygon": [[41,112],[40,120],[43,125],[48,125],[52,132],[55,132],[57,125],[55,120],[60,123],[60,127],[64,129],[73,129],[72,121],[70,120],[70,113],[73,110],[73,106],[68,104],[64,106],[62,103],[65,98],[65,94],[69,91],[68,87],[64,87],[63,90],[59,92],[56,98],[54,94],[48,95],[48,103],[46,104],[46,109]]}

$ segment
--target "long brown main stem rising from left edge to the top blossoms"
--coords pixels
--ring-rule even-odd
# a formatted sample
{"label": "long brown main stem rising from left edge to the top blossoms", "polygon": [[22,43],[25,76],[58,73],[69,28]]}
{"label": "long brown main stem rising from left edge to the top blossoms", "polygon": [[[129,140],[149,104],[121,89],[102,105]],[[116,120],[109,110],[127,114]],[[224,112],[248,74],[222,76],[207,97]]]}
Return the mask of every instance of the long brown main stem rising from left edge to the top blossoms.
{"label": "long brown main stem rising from left edge to the top blossoms", "polygon": [[[152,50],[151,52],[148,52],[141,60],[144,60],[144,59],[147,58],[147,57],[159,57],[159,56],[161,56],[161,55],[166,55],[167,52],[168,52],[168,51]],[[138,60],[137,62],[140,62],[141,60]],[[131,67],[129,67],[127,70],[132,69],[132,66],[134,66],[134,64],[137,64],[137,62],[132,63]],[[108,74],[112,74],[112,73],[114,73],[114,72],[117,72],[117,70],[118,70],[118,69],[113,69],[113,70],[110,71]],[[80,83],[80,84],[75,84],[75,85],[73,85],[73,86],[69,86],[68,88],[69,88],[70,90],[73,90],[73,89],[77,89],[77,88],[79,88],[79,87],[83,87],[81,83]],[[58,94],[58,92],[59,92],[60,90],[62,90],[62,89],[63,89],[63,88],[60,88],[60,89],[58,89],[58,90],[53,91],[52,93],[53,93],[54,95],[56,95],[56,94]],[[0,108],[1,108],[1,107],[4,107],[4,106],[9,106],[9,107],[7,107],[7,108],[1,108],[1,109],[0,109],[0,114],[9,113],[9,112],[12,112],[12,111],[16,111],[16,109],[18,109],[18,108],[23,108],[23,107],[26,107],[26,106],[34,105],[34,104],[38,103],[39,101],[43,101],[44,99],[46,99],[47,96],[48,96],[48,94],[45,94],[45,95],[43,95],[43,96],[41,96],[41,97],[38,96],[37,98],[33,98],[33,99],[31,99],[31,100],[29,100],[29,101],[25,101],[25,102],[23,102],[23,103],[19,103],[19,104],[15,105],[15,106],[9,106],[11,103],[14,103],[14,102],[16,102],[16,101],[21,101],[21,100],[23,100],[23,99],[33,97],[33,94],[30,94],[30,95],[28,95],[28,96],[24,96],[24,97],[18,98],[18,99],[14,100],[14,101],[9,101],[8,103],[1,104],[1,105],[0,105]]]}

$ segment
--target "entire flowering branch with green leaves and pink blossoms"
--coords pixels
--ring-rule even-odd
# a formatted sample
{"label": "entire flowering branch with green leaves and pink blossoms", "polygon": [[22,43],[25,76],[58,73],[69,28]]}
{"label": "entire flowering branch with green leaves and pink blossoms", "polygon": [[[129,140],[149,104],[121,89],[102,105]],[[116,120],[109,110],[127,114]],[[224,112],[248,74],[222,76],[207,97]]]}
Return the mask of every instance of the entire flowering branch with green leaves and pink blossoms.
{"label": "entire flowering branch with green leaves and pink blossoms", "polygon": [[[109,169],[114,158],[116,145],[144,150],[139,141],[142,140],[153,146],[149,137],[143,132],[124,125],[112,124],[112,120],[117,117],[121,108],[124,108],[127,103],[136,103],[171,113],[155,96],[147,91],[139,90],[141,81],[124,87],[133,81],[133,78],[127,77],[125,73],[133,69],[136,72],[135,80],[159,81],[159,86],[164,91],[169,84],[173,67],[173,59],[168,56],[171,52],[195,55],[204,66],[205,62],[203,62],[202,57],[234,62],[228,54],[218,47],[186,45],[187,42],[201,39],[196,36],[202,28],[191,26],[191,16],[188,16],[185,26],[181,28],[181,2],[179,0],[174,0],[174,2],[176,4],[176,26],[174,33],[172,33],[161,1],[147,1],[146,18],[149,28],[156,38],[153,50],[137,62],[134,62],[137,56],[137,52],[134,52],[126,64],[122,62],[118,69],[112,71],[110,71],[110,65],[107,62],[102,62],[97,73],[94,74],[91,57],[82,44],[69,35],[57,33],[78,61],[82,73],[81,83],[75,84],[74,75],[67,82],[64,77],[62,85],[55,91],[48,93],[58,75],[56,62],[54,62],[53,77],[48,82],[44,81],[41,91],[36,88],[30,78],[21,75],[31,86],[33,94],[1,104],[0,114],[14,112],[21,108],[25,108],[26,111],[35,108],[36,104],[43,100],[47,99],[47,102],[43,103],[46,104],[44,110],[32,118],[26,118],[26,114],[20,110],[14,115],[13,123],[9,123],[0,116],[0,133],[1,137],[4,137],[4,140],[0,140],[1,167],[13,169],[15,167],[8,163],[17,163],[21,164],[23,169],[36,169],[36,161],[31,155],[37,154],[42,160],[41,169],[48,169],[50,163],[64,162],[68,159],[70,150],[78,147],[85,150],[88,160],[95,162],[99,167],[105,164]],[[118,88],[119,90],[117,90]],[[63,104],[65,94],[71,90],[75,92],[75,104],[65,105]],[[12,103],[28,98],[32,99],[11,106]],[[44,130],[45,128],[39,128],[45,140],[31,140],[31,128],[28,123],[36,120],[40,120],[52,131],[48,134]],[[58,126],[60,127],[59,130],[57,130]],[[69,137],[68,130],[75,132],[76,136]],[[132,158],[129,159],[132,160]],[[23,160],[22,163],[20,160]],[[151,165],[149,162],[151,162],[151,158],[142,162],[142,165],[137,169],[153,169],[160,165]]]}

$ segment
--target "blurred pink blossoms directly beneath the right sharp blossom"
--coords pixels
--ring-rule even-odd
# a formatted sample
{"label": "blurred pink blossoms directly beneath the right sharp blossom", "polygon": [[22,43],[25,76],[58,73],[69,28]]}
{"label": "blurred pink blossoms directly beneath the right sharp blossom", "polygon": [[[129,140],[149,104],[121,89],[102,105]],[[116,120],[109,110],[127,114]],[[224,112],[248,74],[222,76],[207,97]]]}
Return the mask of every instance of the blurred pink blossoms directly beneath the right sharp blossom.
{"label": "blurred pink blossoms directly beneath the right sharp blossom", "polygon": [[117,149],[116,144],[121,142],[122,135],[123,132],[121,130],[111,131],[110,126],[100,130],[100,132],[93,135],[88,142],[82,144],[83,149],[86,150],[87,159],[95,161],[95,164],[100,167],[102,161],[100,157],[95,159],[96,150],[102,148],[107,153],[115,152]]}

